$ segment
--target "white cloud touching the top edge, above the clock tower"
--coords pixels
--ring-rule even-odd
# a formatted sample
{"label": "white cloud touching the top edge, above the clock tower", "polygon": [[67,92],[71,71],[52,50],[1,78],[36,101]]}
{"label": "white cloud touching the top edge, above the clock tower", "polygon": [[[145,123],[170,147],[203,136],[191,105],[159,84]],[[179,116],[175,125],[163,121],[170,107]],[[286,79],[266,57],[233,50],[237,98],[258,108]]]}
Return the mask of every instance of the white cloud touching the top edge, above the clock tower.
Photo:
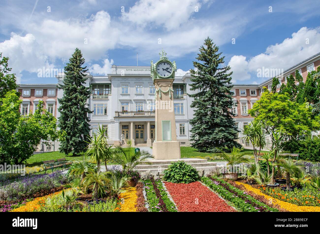
{"label": "white cloud touching the top edge, above the clock tower", "polygon": [[185,23],[199,10],[198,0],[140,0],[122,14],[124,21],[130,21],[139,26],[163,26],[169,30]]}

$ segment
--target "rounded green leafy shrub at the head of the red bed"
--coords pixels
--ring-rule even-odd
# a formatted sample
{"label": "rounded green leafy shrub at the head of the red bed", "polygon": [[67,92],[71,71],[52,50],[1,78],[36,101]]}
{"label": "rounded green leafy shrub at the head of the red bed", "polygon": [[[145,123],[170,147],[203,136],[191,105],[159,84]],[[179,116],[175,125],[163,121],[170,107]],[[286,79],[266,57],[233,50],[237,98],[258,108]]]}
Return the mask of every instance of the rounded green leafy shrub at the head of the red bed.
{"label": "rounded green leafy shrub at the head of the red bed", "polygon": [[196,168],[186,164],[184,161],[177,161],[164,170],[163,179],[172,183],[191,183],[200,178]]}

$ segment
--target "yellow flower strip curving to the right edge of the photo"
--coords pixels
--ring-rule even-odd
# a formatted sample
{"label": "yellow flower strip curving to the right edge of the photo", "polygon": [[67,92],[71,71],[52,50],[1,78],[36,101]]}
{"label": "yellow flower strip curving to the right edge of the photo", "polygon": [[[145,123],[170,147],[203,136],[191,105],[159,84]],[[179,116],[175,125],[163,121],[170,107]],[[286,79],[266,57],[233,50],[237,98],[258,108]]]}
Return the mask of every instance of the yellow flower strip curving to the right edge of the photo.
{"label": "yellow flower strip curving to the right edge of the photo", "polygon": [[272,199],[272,203],[279,205],[281,208],[284,208],[291,212],[320,212],[320,207],[311,207],[311,206],[297,206],[295,204],[281,201],[279,199],[273,198],[271,196],[268,196],[267,194],[264,194],[259,189],[253,188],[251,185],[246,183],[241,183],[238,181],[235,181],[236,184],[243,185],[247,190],[254,192],[255,194],[262,195],[266,199]]}

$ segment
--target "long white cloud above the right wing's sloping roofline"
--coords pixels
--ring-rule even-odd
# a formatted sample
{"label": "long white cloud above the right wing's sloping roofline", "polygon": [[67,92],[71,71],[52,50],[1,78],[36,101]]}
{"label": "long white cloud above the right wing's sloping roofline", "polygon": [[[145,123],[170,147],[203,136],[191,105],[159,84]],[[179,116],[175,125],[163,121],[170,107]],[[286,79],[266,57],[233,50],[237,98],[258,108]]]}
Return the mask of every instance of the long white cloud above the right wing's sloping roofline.
{"label": "long white cloud above the right wing's sloping roofline", "polygon": [[[242,55],[235,55],[230,59],[228,65],[234,71],[233,78],[238,81],[249,79],[251,77],[249,73],[256,75],[257,69],[286,70],[319,52],[319,41],[320,27],[301,27],[298,32],[292,33],[291,38],[284,39],[282,43],[268,46],[264,53],[248,60]],[[272,75],[269,76],[269,78],[271,77]],[[258,83],[265,80],[265,78],[257,79],[259,79]]]}

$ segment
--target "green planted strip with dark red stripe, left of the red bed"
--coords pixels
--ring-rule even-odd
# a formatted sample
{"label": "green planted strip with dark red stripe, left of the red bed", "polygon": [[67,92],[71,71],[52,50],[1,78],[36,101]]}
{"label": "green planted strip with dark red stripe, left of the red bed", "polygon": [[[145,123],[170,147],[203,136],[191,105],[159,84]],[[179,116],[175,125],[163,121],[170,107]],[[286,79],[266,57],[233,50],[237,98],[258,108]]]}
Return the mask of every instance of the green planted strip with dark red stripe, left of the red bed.
{"label": "green planted strip with dark red stripe, left of the red bed", "polygon": [[151,212],[176,212],[174,203],[169,199],[160,179],[145,180],[145,189]]}

